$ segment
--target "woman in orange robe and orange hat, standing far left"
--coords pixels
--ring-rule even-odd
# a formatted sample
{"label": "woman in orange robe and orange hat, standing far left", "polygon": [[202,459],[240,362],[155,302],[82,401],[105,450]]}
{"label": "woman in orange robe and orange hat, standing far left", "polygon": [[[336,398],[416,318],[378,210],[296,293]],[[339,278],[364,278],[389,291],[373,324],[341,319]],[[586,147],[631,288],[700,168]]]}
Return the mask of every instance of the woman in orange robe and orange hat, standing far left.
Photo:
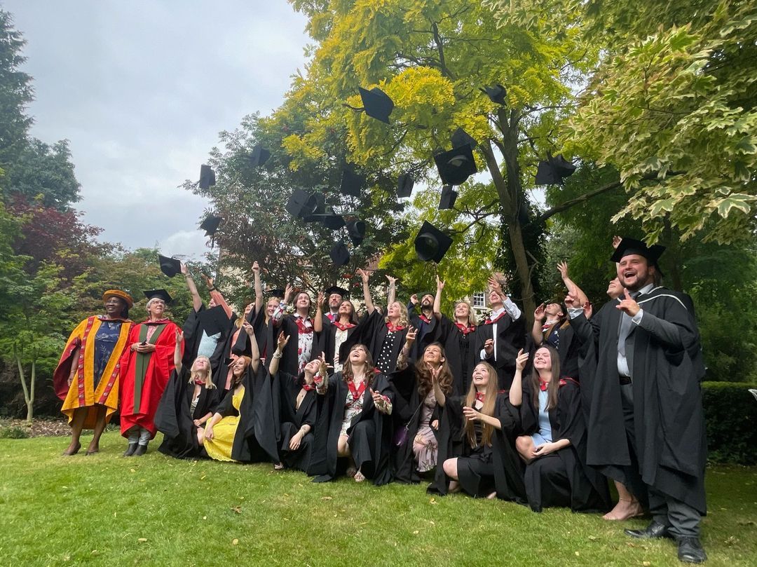
{"label": "woman in orange robe and orange hat, standing far left", "polygon": [[61,412],[71,425],[71,443],[63,452],[67,456],[81,448],[83,429],[95,430],[86,454],[97,453],[105,425],[118,408],[119,359],[132,328],[129,307],[134,301],[117,289],[106,291],[102,299],[105,315],[87,317],[73,329],[53,374]]}

